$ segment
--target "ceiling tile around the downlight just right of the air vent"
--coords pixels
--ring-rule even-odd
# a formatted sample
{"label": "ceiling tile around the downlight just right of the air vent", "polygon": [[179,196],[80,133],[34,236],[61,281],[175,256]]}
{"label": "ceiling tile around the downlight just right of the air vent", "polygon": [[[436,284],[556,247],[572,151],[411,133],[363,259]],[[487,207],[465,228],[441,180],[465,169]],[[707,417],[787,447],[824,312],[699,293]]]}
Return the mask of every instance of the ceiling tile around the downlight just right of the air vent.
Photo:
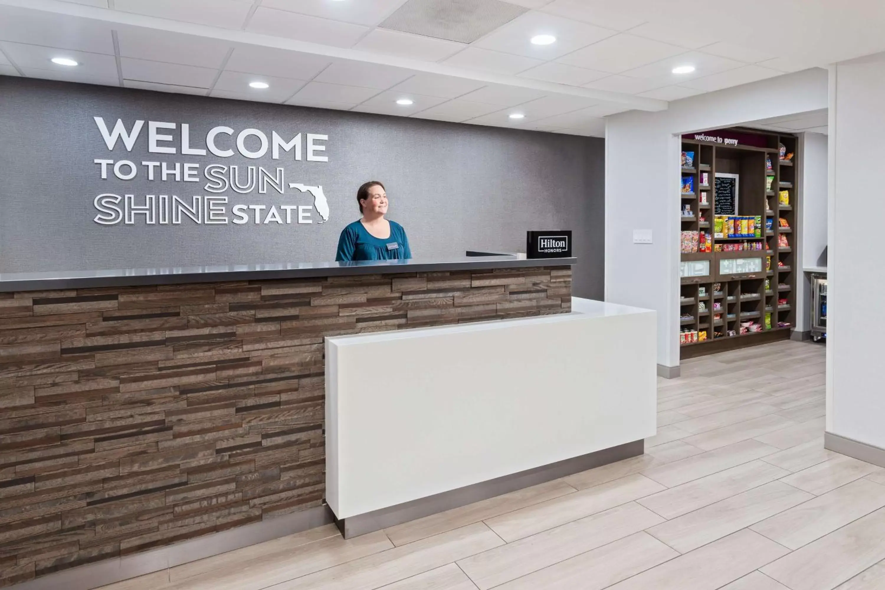
{"label": "ceiling tile around the downlight just right of the air vent", "polygon": [[[556,37],[556,42],[550,45],[533,45],[530,40],[536,34],[551,34]],[[496,28],[473,43],[473,46],[548,60],[562,57],[613,34],[617,34],[617,31],[545,12],[528,11],[512,19],[504,27]]]}

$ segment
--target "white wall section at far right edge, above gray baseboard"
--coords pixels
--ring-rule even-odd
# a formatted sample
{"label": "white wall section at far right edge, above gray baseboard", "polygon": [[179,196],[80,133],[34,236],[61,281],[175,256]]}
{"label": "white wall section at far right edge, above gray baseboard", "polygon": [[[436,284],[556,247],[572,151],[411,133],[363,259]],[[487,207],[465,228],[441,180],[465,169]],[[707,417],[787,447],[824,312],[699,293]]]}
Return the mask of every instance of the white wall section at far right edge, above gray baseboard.
{"label": "white wall section at far right edge, above gray baseboard", "polygon": [[885,54],[830,76],[827,431],[885,448]]}

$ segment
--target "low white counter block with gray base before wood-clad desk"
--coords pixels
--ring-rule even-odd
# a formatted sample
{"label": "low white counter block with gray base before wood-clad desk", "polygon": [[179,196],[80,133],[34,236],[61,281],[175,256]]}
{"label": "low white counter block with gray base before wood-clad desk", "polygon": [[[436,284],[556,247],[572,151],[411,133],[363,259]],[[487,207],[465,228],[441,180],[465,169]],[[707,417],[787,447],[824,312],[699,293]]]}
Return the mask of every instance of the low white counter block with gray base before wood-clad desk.
{"label": "low white counter block with gray base before wood-clad desk", "polygon": [[345,536],[643,452],[655,312],[572,302],[326,339],[327,502]]}

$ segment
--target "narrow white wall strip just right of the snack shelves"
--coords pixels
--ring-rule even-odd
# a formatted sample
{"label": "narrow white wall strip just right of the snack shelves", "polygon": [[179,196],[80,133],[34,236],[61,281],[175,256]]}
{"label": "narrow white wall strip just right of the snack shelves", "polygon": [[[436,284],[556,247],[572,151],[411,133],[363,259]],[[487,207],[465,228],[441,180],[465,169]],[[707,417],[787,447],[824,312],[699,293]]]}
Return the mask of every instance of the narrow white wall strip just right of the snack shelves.
{"label": "narrow white wall strip just right of the snack shelves", "polygon": [[[804,133],[800,146],[802,201],[798,211],[797,266],[826,266],[827,262],[820,257],[827,247],[827,135]],[[807,332],[812,329],[811,288],[805,272],[797,279],[796,329]]]}

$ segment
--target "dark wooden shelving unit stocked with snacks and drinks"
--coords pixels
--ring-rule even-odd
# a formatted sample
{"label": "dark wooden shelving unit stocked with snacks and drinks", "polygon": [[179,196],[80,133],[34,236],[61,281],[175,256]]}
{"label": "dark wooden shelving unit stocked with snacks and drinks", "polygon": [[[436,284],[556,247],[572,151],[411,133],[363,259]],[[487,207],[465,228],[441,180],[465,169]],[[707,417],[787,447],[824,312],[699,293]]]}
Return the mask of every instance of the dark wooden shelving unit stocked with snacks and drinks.
{"label": "dark wooden shelving unit stocked with snacks and drinks", "polygon": [[[680,208],[689,205],[691,217],[681,217],[682,231],[697,231],[711,236],[712,249],[717,245],[759,243],[761,249],[744,251],[683,252],[683,265],[709,264],[709,272],[697,276],[682,276],[680,285],[679,329],[700,333],[706,331],[706,340],[681,345],[681,356],[690,358],[743,348],[768,341],[785,340],[796,326],[796,267],[798,244],[795,241],[798,222],[797,190],[798,142],[796,135],[773,134],[752,129],[735,128],[739,134],[751,134],[765,147],[724,145],[682,138],[682,151],[695,152],[690,167],[681,167],[681,175],[694,177],[694,192],[681,195]],[[780,159],[780,146],[794,156]],[[772,167],[766,169],[766,157]],[[709,176],[709,185],[702,185],[702,173]],[[762,219],[761,237],[716,238],[714,235],[715,179],[717,173],[738,175],[737,216]],[[766,190],[766,176],[773,176],[771,190]],[[789,193],[789,204],[781,204],[779,191]],[[702,204],[702,200],[705,203]],[[680,211],[681,216],[681,211]],[[780,226],[780,219],[786,227]],[[703,219],[703,221],[702,221]],[[771,230],[766,230],[766,219]],[[780,246],[781,235],[788,246]],[[751,258],[761,258],[758,271],[751,266]],[[734,272],[728,268],[733,259],[746,259],[746,265],[736,268],[751,269]],[[770,265],[768,261],[770,260]],[[725,264],[722,264],[726,261]],[[722,271],[732,272],[722,272]],[[766,315],[770,327],[766,328]],[[760,331],[741,333],[742,322],[758,324]],[[784,326],[781,326],[784,324]]]}

